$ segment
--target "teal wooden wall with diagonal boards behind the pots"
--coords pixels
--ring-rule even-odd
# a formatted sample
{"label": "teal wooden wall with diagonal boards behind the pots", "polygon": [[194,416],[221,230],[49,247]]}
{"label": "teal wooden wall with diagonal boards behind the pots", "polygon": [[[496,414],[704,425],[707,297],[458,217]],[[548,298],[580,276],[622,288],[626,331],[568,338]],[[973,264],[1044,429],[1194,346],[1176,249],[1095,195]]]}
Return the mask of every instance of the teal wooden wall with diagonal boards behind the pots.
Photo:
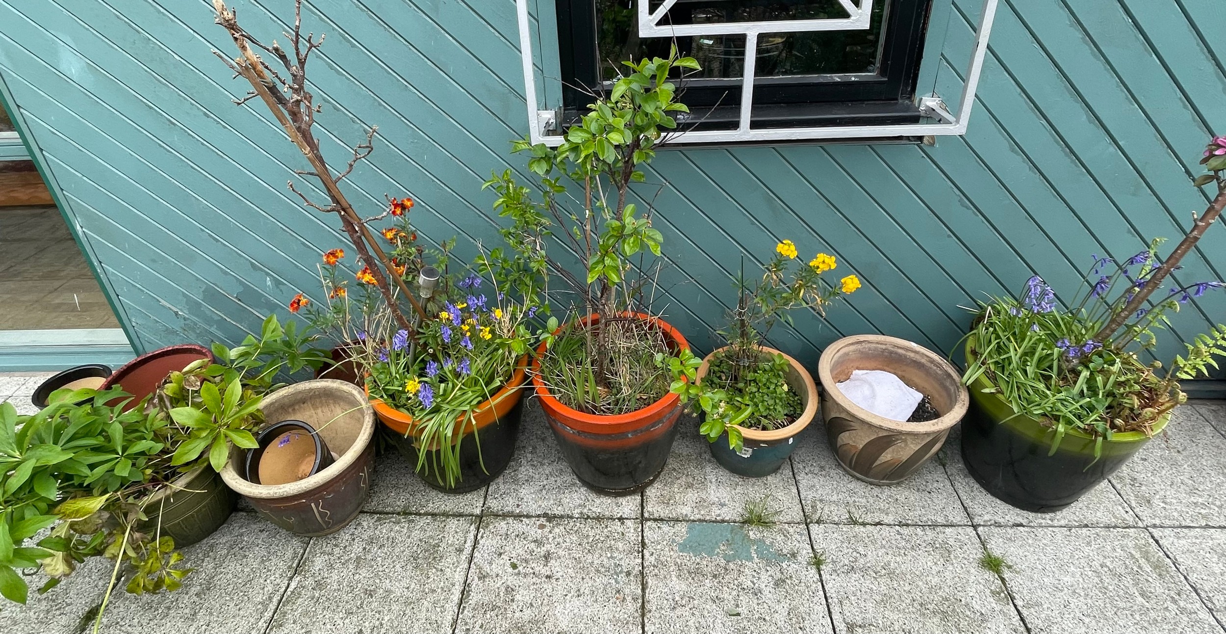
{"label": "teal wooden wall with diagonal boards behind the pots", "polygon": [[[280,33],[289,0],[238,0]],[[924,76],[956,94],[978,0],[940,0]],[[1178,237],[1206,197],[1189,184],[1210,130],[1226,131],[1220,0],[1003,0],[965,137],[662,152],[642,190],[666,235],[658,308],[700,348],[733,300],[729,275],[777,240],[839,258],[866,282],[825,320],[774,335],[814,363],[831,340],[885,332],[949,349],[983,293],[1032,273],[1072,289],[1091,254],[1127,258]],[[310,2],[327,33],[310,76],[325,153],[378,125],[348,190],[371,211],[411,194],[423,233],[497,239],[490,170],[526,174],[506,141],[526,131],[512,0]],[[139,349],[229,341],[318,293],[330,217],[287,190],[304,167],[266,113],[230,103],[242,81],[205,0],[0,0],[0,78],[61,188],[83,248]],[[259,104],[257,104],[259,105]],[[309,188],[309,183],[299,179]],[[1221,280],[1214,227],[1181,282]],[[1226,293],[1176,315],[1163,352],[1226,321]]]}

